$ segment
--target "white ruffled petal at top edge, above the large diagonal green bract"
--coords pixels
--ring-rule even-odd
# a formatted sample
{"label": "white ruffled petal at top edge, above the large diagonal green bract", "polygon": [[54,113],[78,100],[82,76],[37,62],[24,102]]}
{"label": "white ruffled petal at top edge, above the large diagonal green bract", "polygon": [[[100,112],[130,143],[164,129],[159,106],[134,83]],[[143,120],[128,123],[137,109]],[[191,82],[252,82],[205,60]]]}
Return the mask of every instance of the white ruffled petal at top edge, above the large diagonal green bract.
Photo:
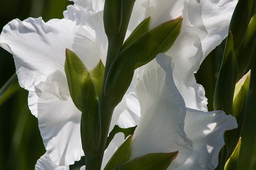
{"label": "white ruffled petal at top edge, above the large diagonal green bract", "polygon": [[[151,16],[150,29],[166,21],[182,16],[182,30],[206,37],[206,28],[201,17],[202,3],[194,0],[138,0],[134,5],[132,25],[138,25],[144,18]],[[144,18],[142,14],[144,13]],[[137,24],[134,24],[136,23]],[[132,27],[131,27],[132,28]],[[135,27],[134,27],[135,28]],[[134,29],[133,28],[133,29]]]}

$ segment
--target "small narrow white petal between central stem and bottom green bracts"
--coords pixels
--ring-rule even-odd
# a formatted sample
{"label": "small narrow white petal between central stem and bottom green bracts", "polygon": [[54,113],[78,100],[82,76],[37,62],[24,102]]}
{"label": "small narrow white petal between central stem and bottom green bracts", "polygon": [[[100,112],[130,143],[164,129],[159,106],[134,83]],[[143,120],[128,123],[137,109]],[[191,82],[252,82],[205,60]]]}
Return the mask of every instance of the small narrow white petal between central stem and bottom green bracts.
{"label": "small narrow white petal between central stem and bottom green bracts", "polygon": [[101,169],[103,170],[110,158],[113,156],[114,152],[124,143],[124,133],[117,133],[112,141],[109,143],[108,148],[104,152],[102,166]]}

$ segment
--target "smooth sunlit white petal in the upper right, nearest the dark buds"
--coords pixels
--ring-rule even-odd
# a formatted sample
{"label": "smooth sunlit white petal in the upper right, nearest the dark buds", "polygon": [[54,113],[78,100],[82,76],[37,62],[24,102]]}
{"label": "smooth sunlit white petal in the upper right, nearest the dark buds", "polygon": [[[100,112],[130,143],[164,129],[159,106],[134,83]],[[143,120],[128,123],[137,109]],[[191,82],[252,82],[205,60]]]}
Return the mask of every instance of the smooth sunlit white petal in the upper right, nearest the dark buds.
{"label": "smooth sunlit white petal in the upper right, nearest the dark buds", "polygon": [[202,41],[204,58],[228,35],[228,27],[238,0],[204,0],[202,19],[208,31]]}

